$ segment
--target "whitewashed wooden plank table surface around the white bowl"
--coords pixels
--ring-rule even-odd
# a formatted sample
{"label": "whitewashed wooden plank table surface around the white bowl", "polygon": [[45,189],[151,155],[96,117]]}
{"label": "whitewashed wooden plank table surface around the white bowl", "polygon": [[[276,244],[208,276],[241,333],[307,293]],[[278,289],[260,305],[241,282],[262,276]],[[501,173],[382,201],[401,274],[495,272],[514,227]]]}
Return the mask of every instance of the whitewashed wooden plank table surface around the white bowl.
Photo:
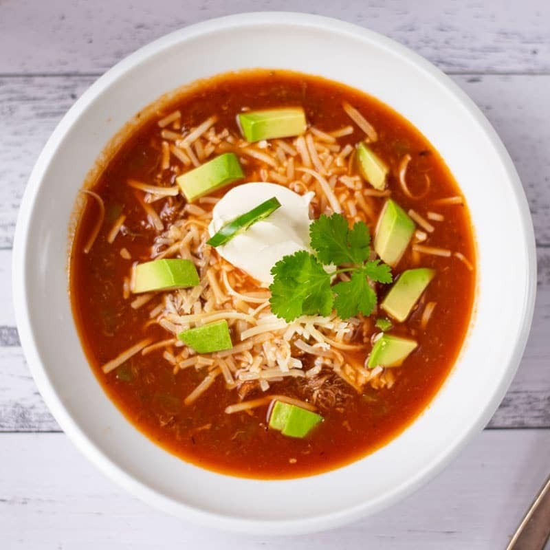
{"label": "whitewashed wooden plank table surface around the white bowl", "polygon": [[[232,12],[274,9],[364,25],[450,74],[485,111],[516,162],[536,228],[539,270],[529,344],[487,429],[399,505],[292,540],[199,529],[100,475],[43,404],[19,346],[10,295],[25,183],[48,135],[84,89],[166,32]],[[0,0],[0,549],[505,547],[550,471],[549,100],[549,0]],[[508,261],[514,259],[504,258],[503,269]]]}

